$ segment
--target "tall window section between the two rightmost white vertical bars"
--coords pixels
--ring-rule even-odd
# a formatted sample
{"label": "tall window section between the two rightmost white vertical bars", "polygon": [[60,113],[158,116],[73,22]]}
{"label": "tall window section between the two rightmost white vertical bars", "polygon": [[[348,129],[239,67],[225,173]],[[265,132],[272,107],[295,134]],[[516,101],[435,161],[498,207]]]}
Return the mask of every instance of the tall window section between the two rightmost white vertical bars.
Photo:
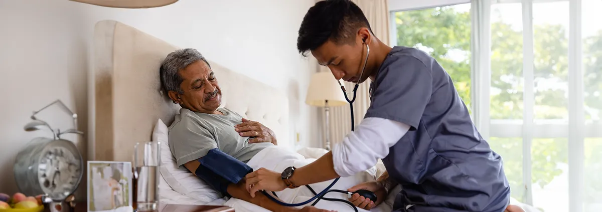
{"label": "tall window section between the two rightmost white vertical bars", "polygon": [[[533,108],[529,113],[535,126],[568,124],[568,13],[568,1],[533,3]],[[533,206],[543,211],[569,211],[568,132],[559,136],[533,137],[531,145]]]}

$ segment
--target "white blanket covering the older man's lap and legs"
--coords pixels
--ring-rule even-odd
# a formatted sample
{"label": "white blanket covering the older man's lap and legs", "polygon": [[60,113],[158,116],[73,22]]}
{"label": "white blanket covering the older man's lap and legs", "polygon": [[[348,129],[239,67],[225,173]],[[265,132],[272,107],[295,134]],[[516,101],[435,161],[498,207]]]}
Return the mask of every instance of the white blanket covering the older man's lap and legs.
{"label": "white blanket covering the older man's lap and legs", "polygon": [[[253,167],[253,170],[257,170],[260,167],[264,167],[265,169],[274,170],[275,172],[282,172],[282,170],[286,169],[289,166],[301,167],[311,163],[314,160],[315,159],[313,158],[304,158],[302,155],[297,154],[296,152],[288,151],[287,149],[281,148],[279,146],[273,146],[259,152],[247,164]],[[340,178],[337,181],[337,183],[333,187],[331,187],[331,189],[347,190],[350,187],[355,186],[356,184],[365,181],[371,181],[374,179],[376,179],[376,167],[372,167],[371,169],[365,170],[361,173],[357,173],[353,176]],[[320,193],[321,190],[326,189],[326,187],[329,186],[330,183],[332,183],[332,180],[326,182],[319,182],[317,184],[311,184],[309,186],[311,186],[312,189],[315,190],[315,192]],[[306,187],[299,187],[297,189],[285,189],[281,192],[276,192],[276,195],[278,195],[278,197],[282,199],[282,201],[287,203],[304,202],[314,196]],[[371,211],[391,211],[391,204],[393,203],[392,201],[394,196],[395,195],[389,195],[389,197],[385,202],[383,202],[383,204],[380,204],[377,208],[373,208]],[[330,192],[326,195],[326,197],[347,199],[347,195],[336,192]],[[249,202],[235,198],[229,199],[223,205],[228,205],[229,207],[235,208],[236,211],[267,211],[264,208],[258,207],[257,205],[253,205]],[[311,203],[308,205],[311,205]],[[303,206],[300,206],[299,208],[302,207]],[[318,202],[318,204],[315,205],[315,207],[337,211],[353,210],[350,205],[344,204],[343,202],[331,202],[324,200]],[[358,208],[358,211],[367,210],[362,210]]]}

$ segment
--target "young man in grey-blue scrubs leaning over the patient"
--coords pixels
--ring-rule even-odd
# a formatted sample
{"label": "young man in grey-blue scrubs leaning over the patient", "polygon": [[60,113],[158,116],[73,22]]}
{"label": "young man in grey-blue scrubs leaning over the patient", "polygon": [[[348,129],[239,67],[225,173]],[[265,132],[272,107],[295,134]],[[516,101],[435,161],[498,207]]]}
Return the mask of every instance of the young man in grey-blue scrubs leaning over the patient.
{"label": "young man in grey-blue scrubs leaning over the patient", "polygon": [[401,184],[394,211],[523,211],[509,205],[500,155],[480,136],[452,79],[434,58],[381,42],[348,0],[320,1],[310,8],[297,48],[329,67],[333,80],[364,83],[370,78],[370,108],[355,131],[314,163],[282,173],[249,173],[246,186],[252,196],[258,190],[351,176],[382,158],[387,171],[377,181],[349,189],[371,190],[377,202],[354,195],[350,201],[356,206],[374,208]]}

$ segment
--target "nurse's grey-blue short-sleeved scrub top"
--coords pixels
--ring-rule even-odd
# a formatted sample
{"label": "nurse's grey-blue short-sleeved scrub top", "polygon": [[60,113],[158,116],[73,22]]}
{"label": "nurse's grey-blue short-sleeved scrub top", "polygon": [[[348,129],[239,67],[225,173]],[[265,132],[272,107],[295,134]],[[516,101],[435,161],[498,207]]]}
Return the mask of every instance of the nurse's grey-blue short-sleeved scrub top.
{"label": "nurse's grey-blue short-sleeved scrub top", "polygon": [[501,157],[480,136],[434,58],[394,47],[370,84],[370,98],[365,117],[411,126],[383,158],[389,177],[403,188],[393,210],[504,211],[510,187]]}

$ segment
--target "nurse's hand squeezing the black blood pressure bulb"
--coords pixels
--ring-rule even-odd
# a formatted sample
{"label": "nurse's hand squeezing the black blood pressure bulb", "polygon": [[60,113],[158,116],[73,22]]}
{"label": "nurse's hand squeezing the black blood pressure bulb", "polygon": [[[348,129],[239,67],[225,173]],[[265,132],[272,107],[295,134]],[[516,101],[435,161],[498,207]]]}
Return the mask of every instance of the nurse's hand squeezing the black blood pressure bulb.
{"label": "nurse's hand squeezing the black blood pressure bulb", "polygon": [[380,181],[369,181],[364,182],[362,184],[358,184],[356,186],[347,189],[348,192],[355,192],[356,190],[369,190],[376,195],[376,202],[371,201],[370,199],[364,198],[363,196],[359,196],[359,194],[355,193],[349,198],[349,201],[353,203],[358,208],[364,208],[365,210],[370,210],[376,205],[379,205],[380,202],[384,201],[386,198],[386,189],[385,186]]}

